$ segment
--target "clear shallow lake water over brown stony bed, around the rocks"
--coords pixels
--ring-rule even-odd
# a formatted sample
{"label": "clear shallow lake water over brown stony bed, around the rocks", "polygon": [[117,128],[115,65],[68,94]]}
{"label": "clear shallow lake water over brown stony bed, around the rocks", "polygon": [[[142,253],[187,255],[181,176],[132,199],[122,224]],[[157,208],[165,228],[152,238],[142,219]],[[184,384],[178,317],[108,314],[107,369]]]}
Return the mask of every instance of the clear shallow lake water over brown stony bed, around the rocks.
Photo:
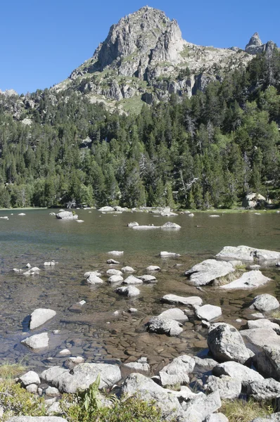
{"label": "clear shallow lake water over brown stony bed, around the rocks", "polygon": [[[87,362],[125,362],[148,356],[155,370],[182,352],[198,352],[207,347],[205,331],[193,322],[185,324],[180,338],[145,332],[144,323],[170,307],[160,304],[163,295],[200,295],[205,303],[222,306],[223,319],[230,322],[248,316],[244,303],[258,293],[269,292],[280,298],[280,271],[274,268],[262,271],[272,277],[272,283],[253,292],[220,292],[208,286],[200,292],[189,286],[183,276],[186,269],[212,257],[225,245],[280,250],[279,214],[225,214],[211,218],[198,212],[194,217],[154,217],[146,213],[114,216],[77,210],[79,219],[84,220],[79,224],[57,220],[49,215],[51,211],[26,210],[25,216],[19,216],[22,211],[17,210],[0,212],[0,217],[9,217],[8,221],[0,219],[0,362],[24,357],[34,367],[62,365],[65,358],[57,354],[67,347],[72,355],[82,355]],[[173,221],[182,229],[134,231],[127,228],[132,221],[154,225]],[[162,271],[156,275],[158,283],[140,286],[141,295],[134,300],[119,297],[115,286],[106,283],[88,286],[84,272],[106,271],[110,250],[124,250],[124,255],[115,259],[120,261],[120,268],[134,267],[136,275],[145,274],[148,265],[159,265]],[[177,252],[182,257],[162,260],[158,256],[161,250]],[[44,262],[49,260],[58,261],[56,267],[44,268]],[[14,267],[24,268],[27,262],[41,268],[39,276],[25,277],[11,271]],[[82,313],[71,312],[70,307],[79,300],[87,302]],[[49,349],[34,353],[20,345],[20,340],[30,335],[27,316],[37,307],[50,307],[57,315],[32,331],[50,333]],[[139,312],[127,314],[129,307],[136,307]],[[114,315],[115,311],[119,314]],[[61,330],[59,335],[51,333],[54,329]]]}

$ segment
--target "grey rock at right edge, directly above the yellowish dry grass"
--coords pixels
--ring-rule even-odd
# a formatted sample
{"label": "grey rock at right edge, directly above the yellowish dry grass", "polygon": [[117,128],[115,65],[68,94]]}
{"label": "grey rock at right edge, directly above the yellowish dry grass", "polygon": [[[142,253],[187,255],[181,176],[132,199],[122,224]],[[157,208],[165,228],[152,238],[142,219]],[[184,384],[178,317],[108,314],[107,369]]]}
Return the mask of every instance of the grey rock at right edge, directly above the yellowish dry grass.
{"label": "grey rock at right edge, directly above the yellowish dry grass", "polygon": [[247,394],[257,400],[271,400],[280,397],[280,383],[273,378],[253,381],[247,386]]}

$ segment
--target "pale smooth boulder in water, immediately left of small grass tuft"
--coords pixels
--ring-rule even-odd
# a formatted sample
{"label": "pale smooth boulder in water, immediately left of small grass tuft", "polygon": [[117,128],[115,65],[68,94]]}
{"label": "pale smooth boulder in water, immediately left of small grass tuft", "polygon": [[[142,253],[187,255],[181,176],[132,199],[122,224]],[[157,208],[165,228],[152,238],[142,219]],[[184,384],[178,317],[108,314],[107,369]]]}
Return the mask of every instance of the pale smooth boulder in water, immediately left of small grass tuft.
{"label": "pale smooth boulder in water, immediately left of small grass tuft", "polygon": [[230,262],[205,260],[200,264],[194,265],[185,272],[185,275],[190,277],[190,282],[193,286],[205,286],[219,279],[219,277],[227,276],[234,271],[235,269]]}

